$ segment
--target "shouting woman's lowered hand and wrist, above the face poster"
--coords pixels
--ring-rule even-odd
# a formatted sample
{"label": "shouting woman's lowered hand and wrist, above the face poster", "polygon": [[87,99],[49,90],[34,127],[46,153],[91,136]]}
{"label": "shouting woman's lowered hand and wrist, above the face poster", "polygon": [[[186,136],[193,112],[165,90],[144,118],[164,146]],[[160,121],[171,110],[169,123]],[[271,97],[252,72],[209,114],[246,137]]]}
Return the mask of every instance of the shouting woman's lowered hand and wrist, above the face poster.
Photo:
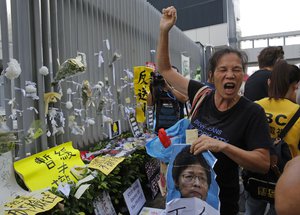
{"label": "shouting woman's lowered hand and wrist, above the face poster", "polygon": [[209,150],[211,152],[221,152],[226,147],[227,143],[211,138],[206,135],[201,135],[191,146],[191,153],[194,155],[200,152]]}

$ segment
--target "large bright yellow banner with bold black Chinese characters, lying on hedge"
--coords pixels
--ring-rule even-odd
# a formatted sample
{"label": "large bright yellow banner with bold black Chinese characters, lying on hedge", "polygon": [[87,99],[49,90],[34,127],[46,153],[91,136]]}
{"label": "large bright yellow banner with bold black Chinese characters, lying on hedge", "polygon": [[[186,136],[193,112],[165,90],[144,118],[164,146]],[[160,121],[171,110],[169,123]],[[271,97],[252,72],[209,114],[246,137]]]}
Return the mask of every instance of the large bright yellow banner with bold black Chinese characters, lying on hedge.
{"label": "large bright yellow banner with bold black Chinese characters, lying on hedge", "polygon": [[70,172],[73,166],[84,166],[80,153],[72,142],[67,142],[30,157],[16,161],[14,168],[29,190],[57,187],[60,183],[75,181]]}

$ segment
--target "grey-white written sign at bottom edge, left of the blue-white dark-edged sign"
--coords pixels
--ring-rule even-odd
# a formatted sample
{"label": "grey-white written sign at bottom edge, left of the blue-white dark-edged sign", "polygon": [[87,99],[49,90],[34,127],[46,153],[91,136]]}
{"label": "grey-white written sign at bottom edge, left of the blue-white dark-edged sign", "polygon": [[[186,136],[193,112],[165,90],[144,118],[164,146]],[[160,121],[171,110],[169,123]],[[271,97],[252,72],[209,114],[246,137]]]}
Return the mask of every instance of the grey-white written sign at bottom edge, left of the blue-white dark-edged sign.
{"label": "grey-white written sign at bottom edge, left of the blue-white dark-edged sign", "polygon": [[93,202],[95,215],[116,215],[109,193],[104,191]]}

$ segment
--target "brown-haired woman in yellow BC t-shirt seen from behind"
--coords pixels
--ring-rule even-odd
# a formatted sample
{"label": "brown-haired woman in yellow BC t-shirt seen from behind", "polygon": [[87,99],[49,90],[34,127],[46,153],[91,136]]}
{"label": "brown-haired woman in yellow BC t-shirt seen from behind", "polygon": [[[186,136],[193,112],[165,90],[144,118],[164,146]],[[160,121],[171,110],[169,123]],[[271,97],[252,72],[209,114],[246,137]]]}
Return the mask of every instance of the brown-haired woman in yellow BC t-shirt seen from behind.
{"label": "brown-haired woman in yellow BC t-shirt seen from behind", "polygon": [[[278,137],[299,108],[294,99],[299,80],[300,69],[297,66],[278,60],[269,80],[269,97],[256,101],[265,110],[272,138]],[[292,157],[300,155],[300,119],[290,128],[284,140],[289,145]],[[245,215],[263,215],[267,204],[267,201],[254,199],[246,194]],[[270,204],[267,214],[276,214],[274,204]]]}

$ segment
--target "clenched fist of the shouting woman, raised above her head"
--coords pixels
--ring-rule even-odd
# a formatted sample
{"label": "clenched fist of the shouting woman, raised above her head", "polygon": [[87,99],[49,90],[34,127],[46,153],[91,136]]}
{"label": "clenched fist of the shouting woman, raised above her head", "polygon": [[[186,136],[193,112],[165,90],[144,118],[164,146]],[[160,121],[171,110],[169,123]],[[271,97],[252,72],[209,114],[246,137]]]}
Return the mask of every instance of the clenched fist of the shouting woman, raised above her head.
{"label": "clenched fist of the shouting woman, raised above her head", "polygon": [[177,12],[175,7],[171,6],[162,10],[162,17],[160,19],[160,30],[169,31],[175,24],[177,19]]}

